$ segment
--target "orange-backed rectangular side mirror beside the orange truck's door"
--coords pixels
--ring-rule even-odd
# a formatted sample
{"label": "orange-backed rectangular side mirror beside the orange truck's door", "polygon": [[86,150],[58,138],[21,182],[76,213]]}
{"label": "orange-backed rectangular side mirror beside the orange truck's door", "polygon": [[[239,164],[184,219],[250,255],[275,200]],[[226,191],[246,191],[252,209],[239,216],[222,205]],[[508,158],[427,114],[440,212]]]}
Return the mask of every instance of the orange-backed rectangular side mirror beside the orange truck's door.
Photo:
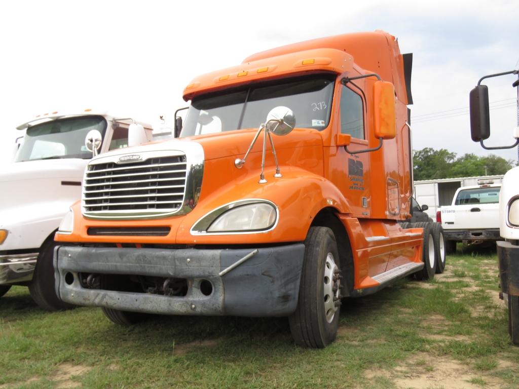
{"label": "orange-backed rectangular side mirror beside the orange truck's door", "polygon": [[392,139],[397,136],[397,112],[394,86],[391,82],[375,81],[373,85],[375,137]]}

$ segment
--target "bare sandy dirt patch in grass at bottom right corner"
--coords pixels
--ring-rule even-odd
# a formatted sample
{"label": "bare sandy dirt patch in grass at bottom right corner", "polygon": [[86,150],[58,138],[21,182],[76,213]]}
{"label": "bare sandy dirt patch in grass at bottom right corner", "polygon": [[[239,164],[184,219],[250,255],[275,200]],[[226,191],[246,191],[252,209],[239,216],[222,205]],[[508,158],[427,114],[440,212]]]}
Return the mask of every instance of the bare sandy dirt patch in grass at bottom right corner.
{"label": "bare sandy dirt patch in grass at bottom right corner", "polygon": [[481,389],[481,386],[469,381],[482,379],[487,388],[502,387],[504,381],[485,374],[475,374],[469,366],[448,357],[432,357],[418,353],[409,358],[405,365],[395,369],[368,372],[366,378],[372,381],[377,376],[394,382],[399,389],[423,389],[441,387],[445,389]]}

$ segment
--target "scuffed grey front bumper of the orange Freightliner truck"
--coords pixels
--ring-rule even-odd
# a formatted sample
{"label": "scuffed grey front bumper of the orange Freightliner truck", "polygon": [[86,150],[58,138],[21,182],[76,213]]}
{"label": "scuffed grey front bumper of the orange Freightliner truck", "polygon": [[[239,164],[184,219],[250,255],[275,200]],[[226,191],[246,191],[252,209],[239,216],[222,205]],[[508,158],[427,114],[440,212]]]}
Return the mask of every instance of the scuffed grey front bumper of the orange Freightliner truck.
{"label": "scuffed grey front bumper of the orange Freightliner truck", "polygon": [[[161,249],[58,246],[54,250],[56,291],[64,302],[178,315],[286,316],[295,311],[303,267],[303,243],[254,248]],[[187,280],[185,296],[85,287],[78,273],[124,274]],[[201,285],[212,286],[207,296]]]}

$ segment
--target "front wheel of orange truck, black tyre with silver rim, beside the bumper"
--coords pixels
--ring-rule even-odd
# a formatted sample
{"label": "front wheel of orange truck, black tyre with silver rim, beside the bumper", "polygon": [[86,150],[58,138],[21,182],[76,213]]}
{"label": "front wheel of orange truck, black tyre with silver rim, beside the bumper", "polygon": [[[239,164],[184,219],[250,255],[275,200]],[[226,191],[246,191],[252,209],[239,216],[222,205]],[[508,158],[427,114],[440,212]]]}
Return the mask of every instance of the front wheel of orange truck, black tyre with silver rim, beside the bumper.
{"label": "front wheel of orange truck, black tyre with silver rim, beside the bumper", "polygon": [[324,348],[337,335],[340,313],[340,263],[330,228],[312,227],[305,240],[299,299],[289,317],[296,344]]}

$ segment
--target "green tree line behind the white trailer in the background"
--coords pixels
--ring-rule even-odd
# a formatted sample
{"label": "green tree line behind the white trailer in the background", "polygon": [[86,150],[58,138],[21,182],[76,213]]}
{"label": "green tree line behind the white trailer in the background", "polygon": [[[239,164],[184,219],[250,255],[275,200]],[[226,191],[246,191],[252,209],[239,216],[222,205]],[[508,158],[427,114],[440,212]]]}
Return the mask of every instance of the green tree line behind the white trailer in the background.
{"label": "green tree line behind the white trailer in the background", "polygon": [[457,157],[455,152],[426,147],[413,151],[414,179],[439,179],[501,175],[513,167],[512,160],[494,154],[486,157],[465,154]]}

